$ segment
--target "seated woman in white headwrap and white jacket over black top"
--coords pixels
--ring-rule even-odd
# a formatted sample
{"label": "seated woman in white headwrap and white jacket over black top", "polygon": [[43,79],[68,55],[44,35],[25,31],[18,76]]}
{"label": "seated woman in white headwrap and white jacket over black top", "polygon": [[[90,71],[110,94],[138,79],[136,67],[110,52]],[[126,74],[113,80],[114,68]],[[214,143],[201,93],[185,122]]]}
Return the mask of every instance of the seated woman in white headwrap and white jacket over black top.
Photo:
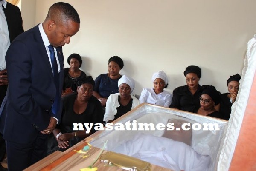
{"label": "seated woman in white headwrap and white jacket over black top", "polygon": [[111,123],[113,120],[126,114],[131,109],[140,105],[140,100],[131,96],[131,92],[134,90],[134,80],[126,75],[118,81],[119,93],[111,94],[108,97],[106,103],[106,113],[104,115],[104,121]]}

